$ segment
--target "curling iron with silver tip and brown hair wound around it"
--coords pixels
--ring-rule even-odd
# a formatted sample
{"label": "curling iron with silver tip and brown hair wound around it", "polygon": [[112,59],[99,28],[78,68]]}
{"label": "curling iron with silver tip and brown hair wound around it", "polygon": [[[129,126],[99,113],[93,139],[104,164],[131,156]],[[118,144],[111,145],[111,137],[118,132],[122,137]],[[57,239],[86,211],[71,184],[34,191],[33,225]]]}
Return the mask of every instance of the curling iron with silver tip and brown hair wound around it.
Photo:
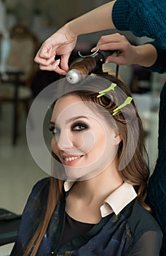
{"label": "curling iron with silver tip and brown hair wound around it", "polygon": [[[106,58],[110,55],[116,56],[119,53],[118,50],[96,50],[87,56],[82,56],[79,52],[79,59],[74,64],[71,64],[70,70],[66,75],[68,83],[78,83],[82,80],[82,75],[88,75],[91,72],[99,72],[102,68],[102,64],[106,61]],[[116,66],[116,76],[118,74],[119,66]]]}

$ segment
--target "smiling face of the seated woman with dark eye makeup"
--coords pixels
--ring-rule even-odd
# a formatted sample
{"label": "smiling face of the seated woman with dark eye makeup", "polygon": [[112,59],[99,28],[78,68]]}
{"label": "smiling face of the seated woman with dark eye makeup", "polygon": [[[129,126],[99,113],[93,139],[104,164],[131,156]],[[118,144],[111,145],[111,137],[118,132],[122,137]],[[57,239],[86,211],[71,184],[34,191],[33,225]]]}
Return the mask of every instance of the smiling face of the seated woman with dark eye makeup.
{"label": "smiling face of the seated woman with dark eye makeup", "polygon": [[74,94],[61,97],[50,121],[52,151],[73,181],[92,178],[110,167],[120,141],[115,129],[90,105]]}

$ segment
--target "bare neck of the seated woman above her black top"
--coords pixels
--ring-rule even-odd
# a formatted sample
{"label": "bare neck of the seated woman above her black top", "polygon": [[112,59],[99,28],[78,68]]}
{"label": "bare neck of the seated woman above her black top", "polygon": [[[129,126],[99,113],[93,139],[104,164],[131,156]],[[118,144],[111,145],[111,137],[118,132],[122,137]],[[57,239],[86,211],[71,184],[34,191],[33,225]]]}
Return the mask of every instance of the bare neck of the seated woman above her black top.
{"label": "bare neck of the seated woman above her black top", "polygon": [[66,212],[79,222],[100,222],[100,206],[122,182],[119,171],[113,169],[86,181],[75,182],[66,199]]}

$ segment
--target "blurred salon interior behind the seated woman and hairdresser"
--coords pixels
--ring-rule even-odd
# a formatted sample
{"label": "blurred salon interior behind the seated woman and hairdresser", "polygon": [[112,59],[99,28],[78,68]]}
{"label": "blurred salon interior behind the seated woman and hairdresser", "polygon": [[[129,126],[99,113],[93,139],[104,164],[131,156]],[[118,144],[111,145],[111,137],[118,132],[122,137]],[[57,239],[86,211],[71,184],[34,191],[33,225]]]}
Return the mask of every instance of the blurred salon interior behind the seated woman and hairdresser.
{"label": "blurred salon interior behind the seated woman and hairdresser", "polygon": [[[33,185],[48,176],[29,148],[26,121],[34,99],[59,76],[39,70],[33,58],[42,42],[60,26],[106,2],[0,0],[0,256],[7,256],[12,250],[17,235],[15,228]],[[83,35],[78,39],[71,61],[78,58],[78,51],[90,54],[101,35],[115,32],[125,34],[134,45],[151,40],[116,30]],[[116,65],[103,64],[103,70],[115,72]],[[152,173],[157,159],[159,94],[166,76],[138,65],[119,67],[119,76],[130,87],[143,120]],[[33,135],[33,118],[28,129],[28,134]],[[49,148],[47,125],[44,129]],[[40,149],[39,154],[42,154]]]}

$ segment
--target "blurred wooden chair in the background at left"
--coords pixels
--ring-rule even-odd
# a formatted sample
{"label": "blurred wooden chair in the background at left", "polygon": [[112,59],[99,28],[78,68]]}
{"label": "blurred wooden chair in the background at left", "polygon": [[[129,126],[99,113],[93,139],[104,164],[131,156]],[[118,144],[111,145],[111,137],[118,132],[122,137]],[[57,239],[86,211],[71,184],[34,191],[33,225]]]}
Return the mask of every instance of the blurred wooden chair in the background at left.
{"label": "blurred wooden chair in the background at left", "polygon": [[5,75],[1,74],[0,105],[14,105],[12,143],[15,145],[18,132],[19,107],[24,105],[28,114],[32,99],[31,84],[38,66],[33,61],[39,49],[39,40],[27,27],[14,26],[10,31],[10,52]]}

